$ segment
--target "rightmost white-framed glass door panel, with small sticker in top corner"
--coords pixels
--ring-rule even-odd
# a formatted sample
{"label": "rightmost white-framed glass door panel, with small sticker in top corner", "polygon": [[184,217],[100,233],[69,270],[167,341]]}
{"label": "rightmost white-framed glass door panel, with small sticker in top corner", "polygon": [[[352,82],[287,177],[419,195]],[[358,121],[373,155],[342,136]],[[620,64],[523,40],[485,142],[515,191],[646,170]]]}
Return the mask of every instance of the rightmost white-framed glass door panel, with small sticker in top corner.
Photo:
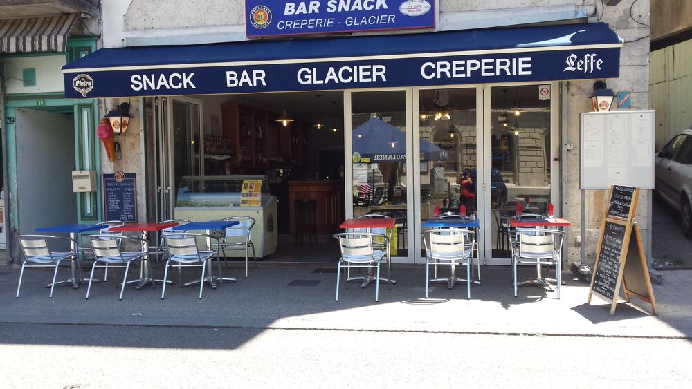
{"label": "rightmost white-framed glass door panel, with small sticker in top corner", "polygon": [[488,264],[510,263],[507,219],[518,207],[522,214],[545,214],[552,204],[559,215],[557,91],[557,83],[484,88]]}

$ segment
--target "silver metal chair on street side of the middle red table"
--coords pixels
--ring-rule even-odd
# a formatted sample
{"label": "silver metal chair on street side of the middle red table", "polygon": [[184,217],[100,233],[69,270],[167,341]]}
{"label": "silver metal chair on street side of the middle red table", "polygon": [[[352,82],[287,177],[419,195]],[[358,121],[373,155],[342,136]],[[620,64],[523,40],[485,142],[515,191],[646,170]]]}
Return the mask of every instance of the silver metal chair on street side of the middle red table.
{"label": "silver metal chair on street side of the middle red table", "polygon": [[339,241],[341,258],[336,267],[336,301],[339,301],[339,281],[341,269],[365,268],[376,269],[375,275],[375,301],[379,301],[380,296],[380,263],[382,258],[387,255],[382,250],[374,249],[373,241],[375,238],[385,240],[389,245],[388,236],[374,234],[372,232],[343,232],[333,235]]}

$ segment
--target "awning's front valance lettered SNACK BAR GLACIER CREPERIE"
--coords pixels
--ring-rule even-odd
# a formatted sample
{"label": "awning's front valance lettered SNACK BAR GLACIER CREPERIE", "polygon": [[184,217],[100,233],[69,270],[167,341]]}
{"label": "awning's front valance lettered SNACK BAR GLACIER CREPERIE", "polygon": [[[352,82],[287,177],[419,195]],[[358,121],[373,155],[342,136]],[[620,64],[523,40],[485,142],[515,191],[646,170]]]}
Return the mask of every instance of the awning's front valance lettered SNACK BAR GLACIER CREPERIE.
{"label": "awning's front valance lettered SNACK BAR GLACIER CREPERIE", "polygon": [[[217,95],[619,77],[619,48],[316,58],[65,73],[66,98]],[[117,68],[116,68],[117,69]],[[70,70],[67,70],[70,71]]]}

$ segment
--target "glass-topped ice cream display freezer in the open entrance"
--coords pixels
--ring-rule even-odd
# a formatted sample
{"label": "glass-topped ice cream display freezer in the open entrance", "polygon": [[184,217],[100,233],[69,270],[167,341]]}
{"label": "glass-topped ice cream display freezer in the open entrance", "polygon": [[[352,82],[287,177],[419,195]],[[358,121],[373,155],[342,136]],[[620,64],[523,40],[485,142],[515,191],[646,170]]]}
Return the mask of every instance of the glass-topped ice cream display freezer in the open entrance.
{"label": "glass-topped ice cream display freezer in the open entrance", "polygon": [[[276,251],[276,196],[269,193],[264,175],[185,176],[178,187],[174,216],[193,222],[250,216],[255,219],[251,238],[257,256],[262,258]],[[241,251],[226,254],[245,256]]]}

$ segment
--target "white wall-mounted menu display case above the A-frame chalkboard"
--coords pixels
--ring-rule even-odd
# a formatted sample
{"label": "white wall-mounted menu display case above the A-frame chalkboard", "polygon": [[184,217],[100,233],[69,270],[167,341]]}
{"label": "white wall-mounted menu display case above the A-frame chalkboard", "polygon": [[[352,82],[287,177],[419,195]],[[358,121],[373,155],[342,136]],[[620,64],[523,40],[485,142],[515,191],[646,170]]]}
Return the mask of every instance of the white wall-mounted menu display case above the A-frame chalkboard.
{"label": "white wall-mounted menu display case above the A-frame chalkboard", "polygon": [[654,187],[655,111],[581,114],[581,189]]}

